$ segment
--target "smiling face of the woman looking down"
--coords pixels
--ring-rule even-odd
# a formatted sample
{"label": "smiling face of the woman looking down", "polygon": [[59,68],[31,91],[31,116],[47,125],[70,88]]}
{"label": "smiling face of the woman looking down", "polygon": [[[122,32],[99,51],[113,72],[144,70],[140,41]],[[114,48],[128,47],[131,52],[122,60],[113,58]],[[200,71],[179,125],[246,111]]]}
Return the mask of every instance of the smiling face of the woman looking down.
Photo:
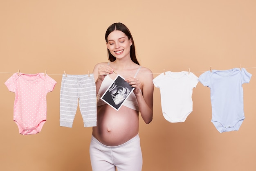
{"label": "smiling face of the woman looking down", "polygon": [[107,48],[117,59],[130,58],[131,45],[132,41],[122,31],[115,30],[108,35]]}

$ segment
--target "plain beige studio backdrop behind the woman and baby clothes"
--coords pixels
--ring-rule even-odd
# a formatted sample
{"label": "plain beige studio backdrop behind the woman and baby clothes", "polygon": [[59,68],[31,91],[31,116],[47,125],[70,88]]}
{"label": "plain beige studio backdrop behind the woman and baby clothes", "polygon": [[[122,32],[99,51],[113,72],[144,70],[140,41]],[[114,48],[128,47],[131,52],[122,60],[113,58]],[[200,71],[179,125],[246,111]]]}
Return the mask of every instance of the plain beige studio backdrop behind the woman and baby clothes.
{"label": "plain beige studio backdrop behind the woman and baby clothes", "polygon": [[[138,60],[154,73],[241,66],[253,76],[244,84],[245,121],[237,132],[219,133],[211,123],[210,89],[193,89],[193,112],[184,123],[162,116],[154,92],[154,117],[140,117],[143,171],[254,171],[256,169],[255,0],[1,0],[0,170],[90,171],[92,128],[79,109],[72,128],[59,126],[61,75],[87,74],[107,61],[105,31],[128,26]],[[22,136],[13,121],[14,93],[4,82],[20,69],[45,72],[57,82],[47,94],[42,132]]]}

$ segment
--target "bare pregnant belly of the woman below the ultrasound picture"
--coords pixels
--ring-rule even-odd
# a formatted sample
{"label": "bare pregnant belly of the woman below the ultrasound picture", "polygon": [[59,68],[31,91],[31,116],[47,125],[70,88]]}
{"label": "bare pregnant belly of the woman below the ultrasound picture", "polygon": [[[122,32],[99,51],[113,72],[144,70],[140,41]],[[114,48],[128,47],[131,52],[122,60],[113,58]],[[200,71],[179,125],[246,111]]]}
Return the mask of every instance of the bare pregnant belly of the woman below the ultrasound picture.
{"label": "bare pregnant belly of the woman below the ultrasound picture", "polygon": [[138,111],[126,106],[116,111],[109,105],[102,105],[97,113],[97,127],[93,127],[92,135],[102,144],[121,145],[138,134]]}

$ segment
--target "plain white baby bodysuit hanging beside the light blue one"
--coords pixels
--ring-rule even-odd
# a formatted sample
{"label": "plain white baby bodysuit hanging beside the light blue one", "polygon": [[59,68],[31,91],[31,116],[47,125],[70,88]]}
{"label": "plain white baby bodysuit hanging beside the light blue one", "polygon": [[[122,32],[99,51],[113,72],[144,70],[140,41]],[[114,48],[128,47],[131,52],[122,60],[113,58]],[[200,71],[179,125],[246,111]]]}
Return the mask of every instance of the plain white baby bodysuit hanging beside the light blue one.
{"label": "plain white baby bodysuit hanging beside the light blue one", "polygon": [[171,122],[184,122],[193,111],[192,93],[198,84],[198,77],[192,72],[165,72],[153,79],[160,89],[164,118]]}

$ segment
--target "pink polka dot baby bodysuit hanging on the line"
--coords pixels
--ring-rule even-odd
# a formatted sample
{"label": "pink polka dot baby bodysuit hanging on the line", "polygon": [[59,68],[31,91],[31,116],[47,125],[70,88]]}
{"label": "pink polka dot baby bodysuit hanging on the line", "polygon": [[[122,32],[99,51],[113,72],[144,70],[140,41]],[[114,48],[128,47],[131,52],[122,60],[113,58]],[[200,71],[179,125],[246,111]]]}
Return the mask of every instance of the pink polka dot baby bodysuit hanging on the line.
{"label": "pink polka dot baby bodysuit hanging on the line", "polygon": [[46,95],[56,81],[45,75],[15,73],[4,83],[15,93],[13,121],[22,135],[37,134],[46,122]]}

